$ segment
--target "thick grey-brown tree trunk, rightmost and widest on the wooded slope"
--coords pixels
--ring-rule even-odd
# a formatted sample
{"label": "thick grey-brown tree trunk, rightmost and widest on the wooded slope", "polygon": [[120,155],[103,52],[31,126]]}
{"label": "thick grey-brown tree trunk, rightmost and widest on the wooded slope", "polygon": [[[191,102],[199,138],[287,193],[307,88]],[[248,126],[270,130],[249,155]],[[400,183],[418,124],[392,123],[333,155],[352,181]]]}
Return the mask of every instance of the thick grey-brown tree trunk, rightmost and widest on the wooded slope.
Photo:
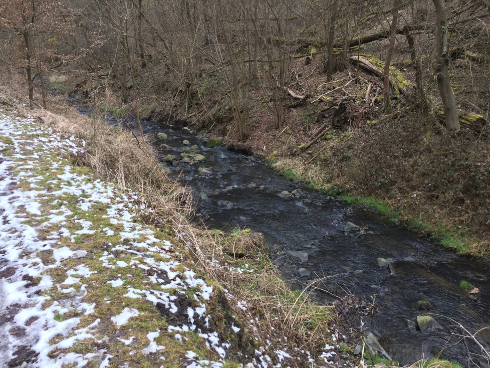
{"label": "thick grey-brown tree trunk, rightmost and widest on the wooded slope", "polygon": [[432,0],[436,13],[437,59],[434,73],[444,109],[444,120],[447,130],[458,130],[459,120],[456,110],[456,99],[449,78],[449,46],[447,42],[447,16],[444,0]]}

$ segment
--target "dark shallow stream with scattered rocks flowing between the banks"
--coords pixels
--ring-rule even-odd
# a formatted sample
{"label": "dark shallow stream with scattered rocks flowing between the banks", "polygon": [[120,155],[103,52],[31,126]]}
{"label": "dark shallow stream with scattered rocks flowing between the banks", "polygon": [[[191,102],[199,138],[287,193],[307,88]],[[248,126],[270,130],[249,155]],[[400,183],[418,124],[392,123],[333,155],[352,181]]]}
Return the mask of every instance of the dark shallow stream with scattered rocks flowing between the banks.
{"label": "dark shallow stream with scattered rocks flowing between the banks", "polygon": [[[128,124],[137,131],[133,119]],[[169,175],[192,189],[200,222],[225,231],[239,227],[261,232],[285,279],[294,288],[313,283],[317,288],[311,288],[312,295],[319,303],[331,304],[333,295],[355,295],[374,305],[373,313],[356,313],[359,324],[353,327],[374,333],[393,360],[409,364],[441,352],[463,366],[488,367],[478,356],[481,347],[454,335],[490,326],[488,263],[458,256],[372,209],[308,189],[251,157],[221,146],[208,148],[185,129],[154,121],[141,124],[145,134],[167,135],[155,139],[155,152]],[[181,153],[192,145],[204,159],[182,161]],[[166,162],[167,155],[177,160]],[[378,258],[389,265],[380,267]],[[462,290],[461,280],[480,293]],[[419,308],[422,300],[430,309]],[[419,315],[431,315],[435,324],[420,331]],[[490,351],[490,328],[476,337]]]}

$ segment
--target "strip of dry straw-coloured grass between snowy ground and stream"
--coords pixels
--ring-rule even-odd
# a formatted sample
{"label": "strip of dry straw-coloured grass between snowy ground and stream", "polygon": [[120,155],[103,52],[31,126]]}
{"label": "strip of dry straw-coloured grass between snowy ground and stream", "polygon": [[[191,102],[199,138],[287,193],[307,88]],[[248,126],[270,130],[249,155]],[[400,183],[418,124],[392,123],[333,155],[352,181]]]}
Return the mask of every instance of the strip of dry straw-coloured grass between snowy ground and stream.
{"label": "strip of dry straw-coloured grass between snowy ground and stream", "polygon": [[[148,220],[170,226],[191,254],[189,262],[218,289],[230,292],[226,294],[226,305],[218,305],[216,311],[232,310],[238,323],[248,331],[254,344],[252,352],[269,346],[272,341],[278,347],[297,346],[315,356],[330,337],[327,323],[332,318],[331,307],[315,305],[307,296],[308,289],[291,291],[266,255],[267,246],[260,234],[243,231],[234,235],[217,234],[192,224],[188,220],[193,209],[190,191],[167,177],[147,139],[110,127],[99,118],[81,116],[62,103],[50,101],[50,105],[53,111],[35,109],[24,113],[57,131],[84,139],[85,154],[74,157],[78,164],[90,166],[98,176],[122,188],[141,193],[154,210],[152,219]],[[19,111],[23,107],[14,103],[13,109]],[[252,265],[254,272],[236,270],[244,263]],[[238,306],[238,301],[243,300],[246,310]],[[256,329],[251,327],[250,320],[255,321]],[[305,363],[298,361],[297,366]]]}

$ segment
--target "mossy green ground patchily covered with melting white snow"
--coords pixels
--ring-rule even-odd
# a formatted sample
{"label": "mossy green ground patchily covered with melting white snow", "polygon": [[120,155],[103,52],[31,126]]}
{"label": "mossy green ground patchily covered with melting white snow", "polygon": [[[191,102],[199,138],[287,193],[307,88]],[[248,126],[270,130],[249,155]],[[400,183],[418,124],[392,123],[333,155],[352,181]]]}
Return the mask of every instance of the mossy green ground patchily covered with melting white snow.
{"label": "mossy green ground patchily covered with melting white snow", "polygon": [[0,142],[0,366],[304,366],[336,357],[325,339],[310,352],[285,330],[269,335],[254,317],[265,310],[249,311],[252,301],[203,276],[170,226],[142,221],[152,210],[137,193],[74,163],[83,140],[1,114]]}

